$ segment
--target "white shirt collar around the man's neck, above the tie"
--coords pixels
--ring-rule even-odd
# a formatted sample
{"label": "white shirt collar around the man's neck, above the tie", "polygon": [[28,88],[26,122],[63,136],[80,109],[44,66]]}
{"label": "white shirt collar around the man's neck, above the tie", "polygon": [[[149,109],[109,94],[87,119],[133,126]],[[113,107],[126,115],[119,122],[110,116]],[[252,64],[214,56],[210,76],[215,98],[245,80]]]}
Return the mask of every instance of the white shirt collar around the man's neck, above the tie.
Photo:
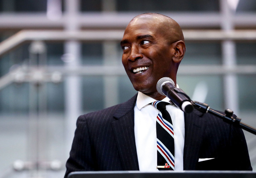
{"label": "white shirt collar around the man's neck, above the tie", "polygon": [[[178,84],[176,84],[176,88],[179,88]],[[138,92],[137,100],[136,100],[136,106],[139,110],[141,110],[146,105],[153,103],[155,100],[154,98],[149,97],[148,95],[145,95],[144,93]],[[168,102],[170,101],[169,98],[165,97],[161,101]]]}

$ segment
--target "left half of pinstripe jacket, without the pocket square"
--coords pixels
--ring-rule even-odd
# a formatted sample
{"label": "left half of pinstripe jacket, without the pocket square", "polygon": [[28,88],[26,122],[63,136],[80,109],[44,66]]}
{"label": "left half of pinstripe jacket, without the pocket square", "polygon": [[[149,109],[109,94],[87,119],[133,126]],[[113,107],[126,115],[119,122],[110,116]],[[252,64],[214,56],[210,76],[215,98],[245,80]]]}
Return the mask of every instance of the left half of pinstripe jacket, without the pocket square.
{"label": "left half of pinstripe jacket, without the pocket square", "polygon": [[139,170],[134,137],[136,98],[79,116],[65,177],[73,171]]}

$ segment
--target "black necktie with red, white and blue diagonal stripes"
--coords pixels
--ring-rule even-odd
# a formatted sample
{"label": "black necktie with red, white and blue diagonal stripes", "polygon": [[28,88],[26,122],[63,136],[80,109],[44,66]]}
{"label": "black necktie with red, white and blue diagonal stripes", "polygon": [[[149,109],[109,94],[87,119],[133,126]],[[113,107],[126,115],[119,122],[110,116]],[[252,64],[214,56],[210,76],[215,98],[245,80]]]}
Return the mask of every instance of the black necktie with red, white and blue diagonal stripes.
{"label": "black necktie with red, white and blue diagonal stripes", "polygon": [[155,101],[152,106],[159,110],[157,115],[157,168],[158,170],[174,170],[174,134],[171,116],[163,101]]}

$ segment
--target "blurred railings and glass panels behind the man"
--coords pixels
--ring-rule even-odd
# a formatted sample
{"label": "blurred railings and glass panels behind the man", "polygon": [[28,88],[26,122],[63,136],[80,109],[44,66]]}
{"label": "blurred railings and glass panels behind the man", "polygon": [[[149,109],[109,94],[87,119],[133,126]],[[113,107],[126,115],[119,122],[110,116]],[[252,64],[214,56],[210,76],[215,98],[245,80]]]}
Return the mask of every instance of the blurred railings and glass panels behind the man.
{"label": "blurred railings and glass panels behind the man", "polygon": [[78,116],[136,93],[119,43],[144,12],[183,29],[179,87],[256,127],[255,0],[0,0],[0,178],[64,176]]}

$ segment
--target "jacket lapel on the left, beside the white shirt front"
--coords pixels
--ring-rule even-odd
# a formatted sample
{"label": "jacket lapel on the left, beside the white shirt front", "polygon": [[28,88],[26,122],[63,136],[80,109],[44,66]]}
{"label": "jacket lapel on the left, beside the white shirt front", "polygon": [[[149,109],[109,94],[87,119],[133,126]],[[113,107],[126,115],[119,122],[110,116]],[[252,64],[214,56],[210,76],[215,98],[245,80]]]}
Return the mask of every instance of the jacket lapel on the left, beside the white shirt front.
{"label": "jacket lapel on the left, beside the white shirt front", "polygon": [[121,104],[114,114],[112,128],[123,170],[139,170],[134,136],[134,106],[137,95]]}

